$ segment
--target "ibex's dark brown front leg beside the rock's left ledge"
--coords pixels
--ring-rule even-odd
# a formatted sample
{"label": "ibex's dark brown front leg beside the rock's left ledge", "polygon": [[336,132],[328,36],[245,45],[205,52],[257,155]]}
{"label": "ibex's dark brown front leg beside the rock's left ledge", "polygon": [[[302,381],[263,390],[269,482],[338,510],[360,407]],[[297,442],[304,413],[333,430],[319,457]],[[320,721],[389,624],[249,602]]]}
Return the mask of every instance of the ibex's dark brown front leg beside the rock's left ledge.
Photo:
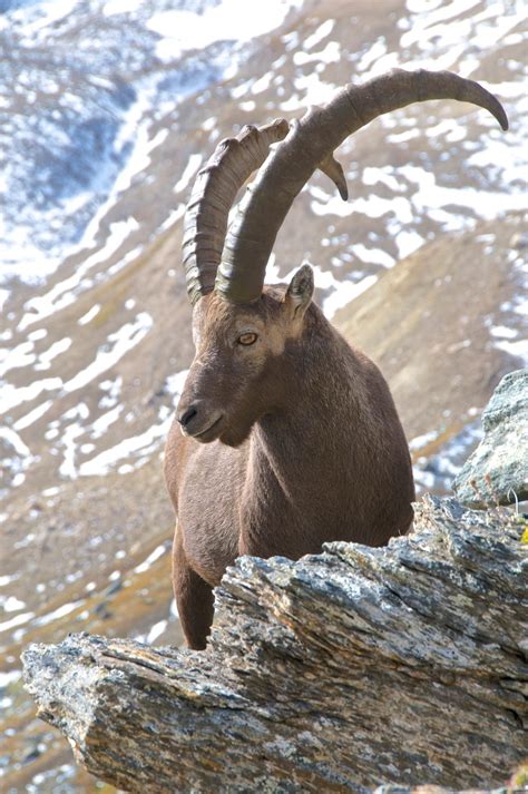
{"label": "ibex's dark brown front leg beside the rock's left ledge", "polygon": [[188,565],[177,527],[173,545],[173,590],[187,645],[203,650],[213,624],[213,588]]}

